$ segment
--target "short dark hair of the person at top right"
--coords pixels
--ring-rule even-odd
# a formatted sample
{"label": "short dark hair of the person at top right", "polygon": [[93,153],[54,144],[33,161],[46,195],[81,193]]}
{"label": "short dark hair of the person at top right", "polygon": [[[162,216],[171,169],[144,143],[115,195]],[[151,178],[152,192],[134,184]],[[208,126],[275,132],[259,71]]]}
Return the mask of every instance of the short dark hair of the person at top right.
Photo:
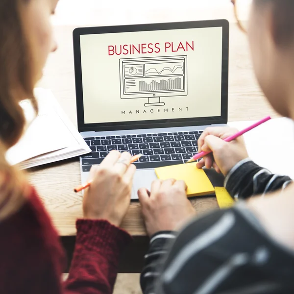
{"label": "short dark hair of the person at top right", "polygon": [[278,46],[294,42],[294,0],[255,0],[258,8],[272,5],[273,36]]}

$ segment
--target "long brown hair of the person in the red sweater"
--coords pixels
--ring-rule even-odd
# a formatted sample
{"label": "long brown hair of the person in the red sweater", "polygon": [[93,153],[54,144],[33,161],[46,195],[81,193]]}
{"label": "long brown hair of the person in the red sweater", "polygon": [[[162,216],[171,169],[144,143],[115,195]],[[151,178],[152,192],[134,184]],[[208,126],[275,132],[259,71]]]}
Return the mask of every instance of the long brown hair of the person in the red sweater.
{"label": "long brown hair of the person in the red sweater", "polygon": [[[4,211],[8,216],[24,202],[22,174],[5,160],[5,151],[17,143],[25,126],[20,100],[31,99],[37,110],[33,97],[32,58],[22,21],[28,2],[0,0],[0,219]],[[2,203],[6,203],[5,209]]]}

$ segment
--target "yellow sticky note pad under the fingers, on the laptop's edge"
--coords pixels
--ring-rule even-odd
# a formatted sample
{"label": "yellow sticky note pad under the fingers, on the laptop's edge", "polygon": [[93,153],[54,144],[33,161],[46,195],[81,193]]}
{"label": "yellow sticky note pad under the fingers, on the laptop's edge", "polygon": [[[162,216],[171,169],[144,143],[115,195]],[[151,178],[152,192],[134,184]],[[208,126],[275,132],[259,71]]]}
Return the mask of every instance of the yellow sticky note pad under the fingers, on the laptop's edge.
{"label": "yellow sticky note pad under the fingers, on the laptop's edge", "polygon": [[188,197],[210,195],[215,191],[206,173],[202,169],[197,169],[193,163],[157,168],[155,173],[162,180],[184,180],[188,186]]}

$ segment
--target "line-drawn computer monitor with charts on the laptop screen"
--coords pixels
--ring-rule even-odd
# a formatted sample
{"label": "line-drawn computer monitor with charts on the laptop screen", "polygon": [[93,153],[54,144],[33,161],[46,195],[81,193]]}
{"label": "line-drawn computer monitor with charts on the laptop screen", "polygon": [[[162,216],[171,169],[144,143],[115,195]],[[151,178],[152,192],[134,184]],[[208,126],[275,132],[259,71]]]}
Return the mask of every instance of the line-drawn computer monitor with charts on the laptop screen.
{"label": "line-drawn computer monitor with charts on the laptop screen", "polygon": [[144,106],[163,106],[162,97],[188,95],[187,56],[120,59],[121,98],[148,98]]}

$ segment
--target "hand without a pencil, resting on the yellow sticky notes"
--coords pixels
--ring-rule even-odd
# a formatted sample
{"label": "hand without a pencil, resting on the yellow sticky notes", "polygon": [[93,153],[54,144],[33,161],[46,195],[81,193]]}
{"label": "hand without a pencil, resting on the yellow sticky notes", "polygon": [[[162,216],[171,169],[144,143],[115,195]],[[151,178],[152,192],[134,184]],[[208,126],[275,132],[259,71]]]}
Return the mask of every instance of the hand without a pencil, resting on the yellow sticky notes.
{"label": "hand without a pencil, resting on the yellow sticky notes", "polygon": [[151,192],[142,188],[138,196],[149,236],[165,230],[176,230],[192,216],[195,210],[186,195],[184,181],[155,180]]}

